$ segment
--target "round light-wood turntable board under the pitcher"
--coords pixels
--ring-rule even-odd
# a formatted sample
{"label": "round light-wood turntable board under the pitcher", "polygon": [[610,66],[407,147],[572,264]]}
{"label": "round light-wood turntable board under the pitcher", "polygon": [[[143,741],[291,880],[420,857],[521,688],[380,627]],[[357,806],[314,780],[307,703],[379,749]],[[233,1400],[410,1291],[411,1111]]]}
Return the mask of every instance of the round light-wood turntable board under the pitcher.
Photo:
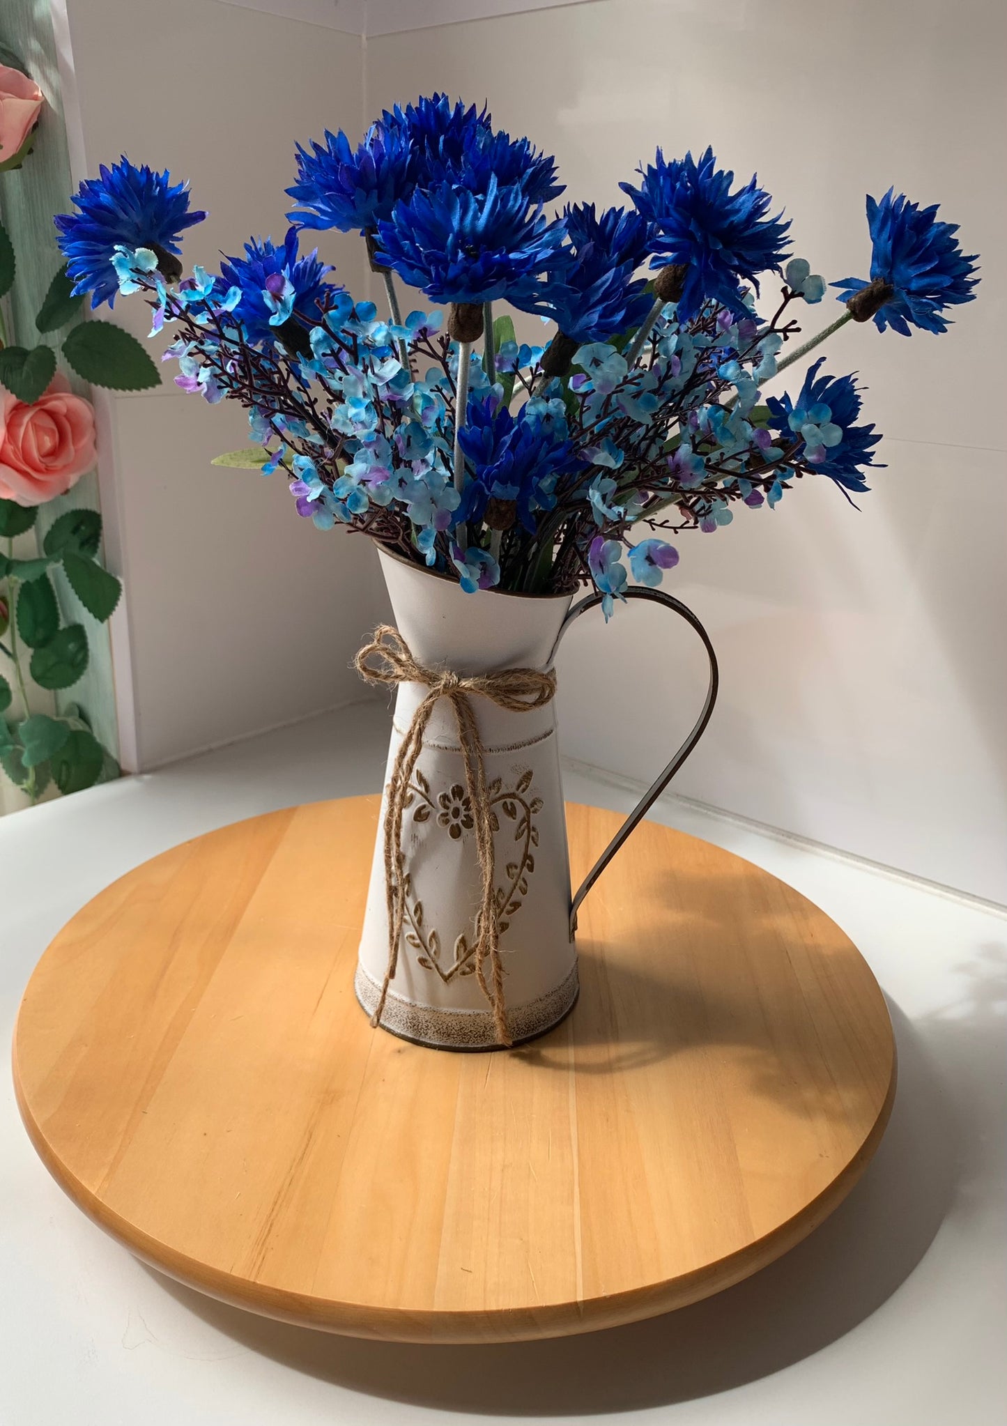
{"label": "round light-wood turntable board under the pitcher", "polygon": [[[378,799],[271,813],[116,881],[24,994],[14,1081],[70,1196],[190,1286],[397,1340],[683,1306],[849,1192],[894,1094],[881,992],[817,907],[643,823],[581,913],[581,998],[515,1051],[371,1030]],[[575,883],[618,824],[568,806]]]}

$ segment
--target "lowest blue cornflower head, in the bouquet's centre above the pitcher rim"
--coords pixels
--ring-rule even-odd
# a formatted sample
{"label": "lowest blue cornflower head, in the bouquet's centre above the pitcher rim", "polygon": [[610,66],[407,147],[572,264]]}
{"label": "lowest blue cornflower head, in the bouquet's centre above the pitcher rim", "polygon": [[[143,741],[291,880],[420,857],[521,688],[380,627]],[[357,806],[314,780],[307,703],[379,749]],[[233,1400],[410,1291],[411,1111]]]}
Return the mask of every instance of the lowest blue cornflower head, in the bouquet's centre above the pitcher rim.
{"label": "lowest blue cornflower head, in the bouquet's centre above the pitcher rim", "polygon": [[458,441],[472,476],[462,491],[458,518],[481,520],[491,499],[513,502],[529,533],[535,533],[535,512],[556,503],[559,476],[583,463],[573,452],[565,419],[556,418],[546,402],[529,401],[512,416],[492,389],[469,396]]}

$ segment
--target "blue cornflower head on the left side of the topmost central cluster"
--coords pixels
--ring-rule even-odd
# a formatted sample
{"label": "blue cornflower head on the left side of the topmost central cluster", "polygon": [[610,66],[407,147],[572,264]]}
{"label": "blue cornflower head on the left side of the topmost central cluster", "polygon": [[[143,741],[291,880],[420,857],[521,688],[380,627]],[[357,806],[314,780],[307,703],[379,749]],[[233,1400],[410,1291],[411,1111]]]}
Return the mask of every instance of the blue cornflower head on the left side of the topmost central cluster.
{"label": "blue cornflower head on the left side of the topmost central cluster", "polygon": [[342,130],[325,130],[325,144],[312,141],[311,153],[297,145],[297,183],[287,193],[301,207],[287,217],[301,228],[374,231],[412,191],[411,157],[401,114],[371,124],[355,151]]}

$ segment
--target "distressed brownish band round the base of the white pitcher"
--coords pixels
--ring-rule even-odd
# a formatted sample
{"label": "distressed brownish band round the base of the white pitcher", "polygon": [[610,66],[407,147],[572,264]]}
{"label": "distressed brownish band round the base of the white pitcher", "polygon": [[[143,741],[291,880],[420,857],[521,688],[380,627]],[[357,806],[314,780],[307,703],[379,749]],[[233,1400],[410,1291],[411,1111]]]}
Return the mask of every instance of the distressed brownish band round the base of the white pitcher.
{"label": "distressed brownish band round the base of the white pitcher", "polygon": [[[508,1005],[506,1020],[513,1044],[536,1040],[563,1020],[579,991],[576,963],[565,981],[528,1001],[526,1005]],[[372,980],[362,965],[357,967],[354,978],[357,1000],[372,1015],[381,998],[381,985]],[[434,1050],[501,1050],[496,1041],[496,1027],[491,1010],[438,1010],[434,1005],[415,1005],[399,1000],[389,988],[381,1015],[381,1028],[411,1040],[416,1045]]]}

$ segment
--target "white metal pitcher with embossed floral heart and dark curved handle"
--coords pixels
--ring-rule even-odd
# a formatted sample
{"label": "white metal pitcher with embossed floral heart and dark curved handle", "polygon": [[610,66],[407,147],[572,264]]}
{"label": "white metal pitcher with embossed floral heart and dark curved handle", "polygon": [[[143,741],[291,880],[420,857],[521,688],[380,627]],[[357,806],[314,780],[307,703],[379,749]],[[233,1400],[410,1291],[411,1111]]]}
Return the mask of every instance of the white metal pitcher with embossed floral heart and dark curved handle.
{"label": "white metal pitcher with embossed floral heart and dark curved handle", "polygon": [[[571,622],[600,603],[591,595],[571,607],[569,595],[526,596],[498,590],[465,593],[458,583],[378,549],[395,626],[415,662],[459,676],[506,669],[548,670]],[[484,747],[492,811],[495,904],[506,1025],[516,1044],[551,1030],[578,995],[576,910],[636,823],[689,756],[713,710],[716,657],[696,616],[652,589],[629,589],[685,617],[710,660],[710,686],[692,733],[633,809],[571,898],[566,824],[559,773],[555,703],[508,712],[472,699]],[[385,799],[371,868],[355,990],[374,1014],[389,965],[385,896],[384,810],[388,779],[418,704],[429,690],[399,683],[385,777]],[[402,821],[404,924],[381,1025],[424,1045],[491,1050],[499,1045],[492,1007],[479,984],[475,918],[482,874],[458,727],[448,699],[432,710],[408,784]]]}

